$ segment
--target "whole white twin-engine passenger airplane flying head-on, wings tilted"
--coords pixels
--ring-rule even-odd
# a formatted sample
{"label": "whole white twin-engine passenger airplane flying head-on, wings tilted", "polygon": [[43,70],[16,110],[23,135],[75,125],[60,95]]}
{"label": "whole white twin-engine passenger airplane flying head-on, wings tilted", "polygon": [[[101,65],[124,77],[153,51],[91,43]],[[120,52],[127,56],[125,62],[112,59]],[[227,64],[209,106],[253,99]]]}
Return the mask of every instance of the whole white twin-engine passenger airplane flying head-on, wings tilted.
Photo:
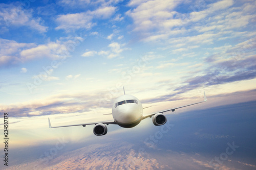
{"label": "whole white twin-engine passenger airplane flying head-on, wings tilted", "polygon": [[95,125],[93,128],[93,133],[96,136],[102,136],[108,132],[108,128],[106,127],[106,125],[116,124],[123,128],[133,128],[136,125],[138,125],[141,122],[141,120],[147,117],[152,117],[152,116],[153,116],[153,119],[152,119],[153,124],[155,126],[161,126],[161,125],[164,125],[167,121],[166,116],[163,114],[164,112],[168,112],[168,111],[174,112],[176,109],[191,106],[191,105],[196,105],[196,104],[207,101],[206,95],[204,92],[204,101],[202,102],[197,102],[197,103],[193,103],[185,106],[175,107],[175,108],[166,109],[159,112],[144,115],[143,109],[148,107],[143,108],[139,99],[137,99],[133,95],[125,94],[124,87],[123,87],[123,93],[124,93],[123,95],[119,96],[119,98],[117,98],[114,101],[114,104],[112,106],[112,113],[109,113],[109,114],[112,114],[113,120],[109,120],[105,122],[84,123],[79,125],[52,127],[50,118],[48,117],[49,128],[60,128],[60,127],[71,127],[71,126],[86,127],[86,125]]}

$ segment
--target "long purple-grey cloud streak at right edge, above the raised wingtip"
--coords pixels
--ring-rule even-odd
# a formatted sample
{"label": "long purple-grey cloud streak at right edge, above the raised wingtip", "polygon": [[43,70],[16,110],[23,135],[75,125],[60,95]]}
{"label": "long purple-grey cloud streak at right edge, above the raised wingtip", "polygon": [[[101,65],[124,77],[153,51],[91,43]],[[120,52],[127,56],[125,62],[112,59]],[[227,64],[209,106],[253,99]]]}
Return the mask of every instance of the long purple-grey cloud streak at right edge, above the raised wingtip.
{"label": "long purple-grey cloud streak at right edge, above the raised wingtip", "polygon": [[[176,99],[176,95],[186,93],[190,90],[202,88],[218,88],[219,85],[229,84],[233,82],[243,82],[256,78],[256,54],[255,54],[256,39],[245,39],[234,45],[225,44],[224,46],[211,48],[214,50],[214,55],[204,57],[202,63],[176,63],[175,59],[169,62],[159,62],[155,68],[166,68],[173,66],[184,67],[196,72],[182,77],[178,86],[173,84],[173,81],[167,81],[164,86],[168,86],[173,90],[172,94],[160,95],[155,99],[145,100],[143,102],[159,102],[170,101]],[[191,55],[191,54],[187,54]],[[193,54],[192,54],[193,55]],[[163,84],[159,84],[163,86]],[[172,86],[172,88],[170,88]],[[177,100],[177,99],[176,99]]]}

